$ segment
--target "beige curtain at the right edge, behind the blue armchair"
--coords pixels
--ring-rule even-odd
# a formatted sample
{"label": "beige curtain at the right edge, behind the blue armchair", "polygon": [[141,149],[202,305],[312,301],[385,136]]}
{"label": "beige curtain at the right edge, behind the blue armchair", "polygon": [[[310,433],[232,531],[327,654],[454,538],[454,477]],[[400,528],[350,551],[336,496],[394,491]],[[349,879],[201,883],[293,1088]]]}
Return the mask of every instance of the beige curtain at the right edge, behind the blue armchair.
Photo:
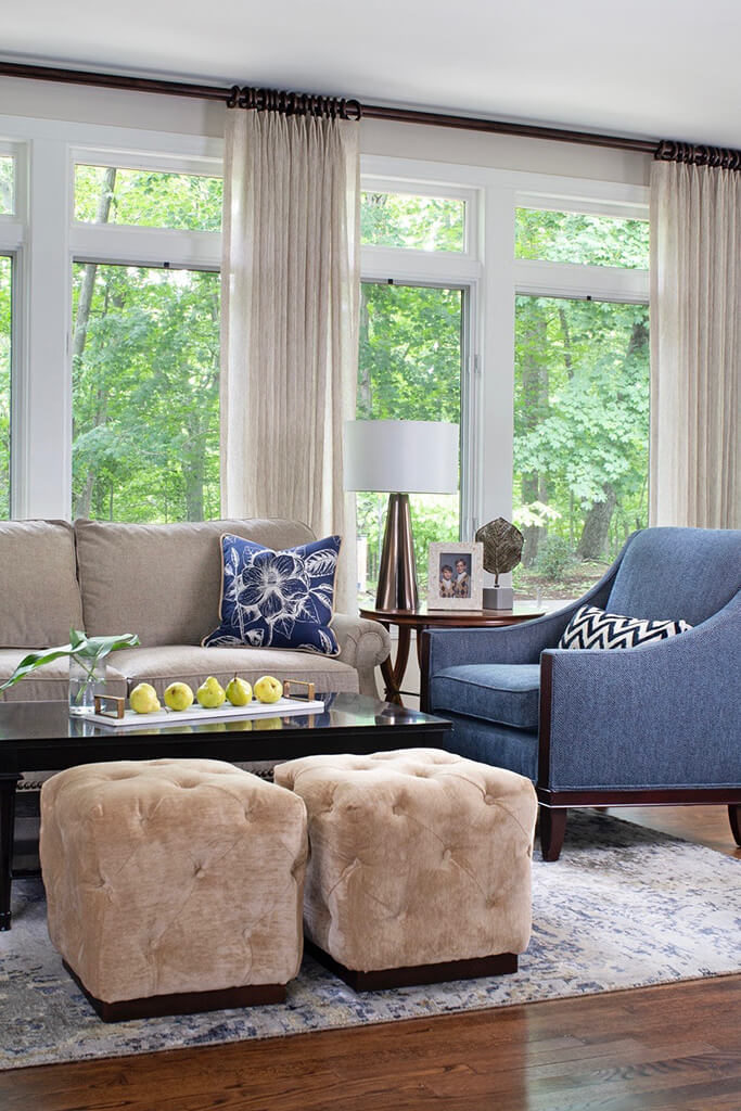
{"label": "beige curtain at the right edge, behind the blue armchair", "polygon": [[651,523],[741,527],[741,173],[651,173]]}

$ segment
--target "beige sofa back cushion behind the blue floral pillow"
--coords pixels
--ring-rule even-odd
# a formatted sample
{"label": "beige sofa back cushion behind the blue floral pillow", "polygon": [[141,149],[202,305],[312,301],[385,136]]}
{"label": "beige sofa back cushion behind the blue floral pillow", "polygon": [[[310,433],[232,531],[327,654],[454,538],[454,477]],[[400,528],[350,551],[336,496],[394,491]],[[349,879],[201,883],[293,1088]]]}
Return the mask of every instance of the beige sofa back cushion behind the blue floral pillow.
{"label": "beige sofa back cushion behind the blue floral pillow", "polygon": [[142,645],[200,644],[218,624],[223,532],[270,548],[314,539],[306,524],[257,519],[178,524],[79,520],[74,532],[87,632],[136,632]]}

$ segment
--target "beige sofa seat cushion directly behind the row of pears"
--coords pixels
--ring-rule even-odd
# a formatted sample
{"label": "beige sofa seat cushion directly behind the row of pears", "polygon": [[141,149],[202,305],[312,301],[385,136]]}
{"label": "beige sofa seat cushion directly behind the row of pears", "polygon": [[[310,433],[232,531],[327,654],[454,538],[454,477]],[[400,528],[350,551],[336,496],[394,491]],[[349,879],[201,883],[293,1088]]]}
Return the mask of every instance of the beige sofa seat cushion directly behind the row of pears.
{"label": "beige sofa seat cushion directly behind the row of pears", "polygon": [[162,648],[131,648],[116,653],[116,667],[132,684],[151,683],[162,694],[168,683],[181,680],[196,690],[208,675],[216,675],[222,687],[234,673],[249,683],[270,674],[303,679],[316,683],[317,691],[357,693],[358,672],[348,663],[313,652],[278,648],[201,648],[178,644]]}

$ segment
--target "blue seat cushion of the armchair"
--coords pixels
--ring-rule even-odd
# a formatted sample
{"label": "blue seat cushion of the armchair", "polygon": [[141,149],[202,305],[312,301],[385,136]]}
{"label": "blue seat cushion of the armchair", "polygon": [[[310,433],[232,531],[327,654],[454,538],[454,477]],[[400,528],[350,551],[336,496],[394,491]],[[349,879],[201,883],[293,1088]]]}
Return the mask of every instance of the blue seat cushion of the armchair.
{"label": "blue seat cushion of the armchair", "polygon": [[463,663],[444,668],[430,682],[432,713],[538,729],[539,663]]}

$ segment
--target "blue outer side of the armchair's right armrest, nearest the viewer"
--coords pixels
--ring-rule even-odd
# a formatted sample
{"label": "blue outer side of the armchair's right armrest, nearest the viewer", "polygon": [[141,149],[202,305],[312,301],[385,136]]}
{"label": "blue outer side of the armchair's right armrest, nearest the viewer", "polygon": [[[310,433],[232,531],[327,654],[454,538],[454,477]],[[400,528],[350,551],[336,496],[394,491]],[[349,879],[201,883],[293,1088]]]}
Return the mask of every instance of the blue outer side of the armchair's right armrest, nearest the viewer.
{"label": "blue outer side of the armchair's right armrest, nearest the viewer", "polygon": [[741,591],[689,632],[628,650],[547,650],[538,785],[741,787]]}

